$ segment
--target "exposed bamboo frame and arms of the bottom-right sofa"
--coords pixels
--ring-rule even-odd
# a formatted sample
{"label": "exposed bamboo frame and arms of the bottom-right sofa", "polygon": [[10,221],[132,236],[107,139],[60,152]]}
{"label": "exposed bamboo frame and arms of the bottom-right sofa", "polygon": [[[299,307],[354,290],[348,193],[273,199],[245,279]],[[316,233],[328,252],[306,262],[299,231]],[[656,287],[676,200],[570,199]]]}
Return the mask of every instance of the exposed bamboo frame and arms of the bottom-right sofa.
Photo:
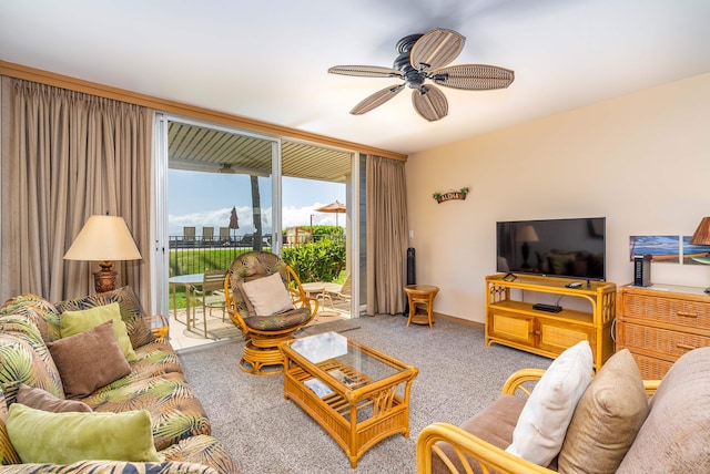
{"label": "exposed bamboo frame and arms of the bottom-right sofa", "polygon": [[[503,395],[515,395],[524,401],[545,370],[523,369],[508,378]],[[660,381],[645,381],[646,393],[652,396]],[[500,400],[500,399],[499,399]],[[517,416],[516,416],[517,418]],[[474,420],[474,419],[471,419]],[[509,442],[509,441],[508,441]],[[517,457],[463,427],[449,423],[426,426],[417,439],[417,472],[424,473],[556,473],[552,468]]]}

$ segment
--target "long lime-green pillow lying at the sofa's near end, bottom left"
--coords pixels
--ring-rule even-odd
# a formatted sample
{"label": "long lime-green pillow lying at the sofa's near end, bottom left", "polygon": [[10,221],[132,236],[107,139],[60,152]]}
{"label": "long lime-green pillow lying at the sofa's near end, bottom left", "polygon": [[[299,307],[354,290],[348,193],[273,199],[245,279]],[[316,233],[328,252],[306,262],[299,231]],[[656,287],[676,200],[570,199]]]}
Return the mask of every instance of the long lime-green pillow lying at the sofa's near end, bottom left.
{"label": "long lime-green pillow lying at the sofa's near end, bottom left", "polygon": [[124,413],[51,413],[10,406],[10,442],[23,463],[72,464],[82,460],[162,462],[146,410]]}

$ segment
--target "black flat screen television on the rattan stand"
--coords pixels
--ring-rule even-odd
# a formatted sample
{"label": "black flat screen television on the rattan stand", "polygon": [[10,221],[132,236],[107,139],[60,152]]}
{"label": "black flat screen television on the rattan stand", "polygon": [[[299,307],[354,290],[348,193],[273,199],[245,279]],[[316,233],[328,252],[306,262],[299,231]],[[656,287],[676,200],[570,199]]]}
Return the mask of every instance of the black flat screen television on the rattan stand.
{"label": "black flat screen television on the rattan stand", "polygon": [[606,279],[606,218],[496,223],[497,271]]}

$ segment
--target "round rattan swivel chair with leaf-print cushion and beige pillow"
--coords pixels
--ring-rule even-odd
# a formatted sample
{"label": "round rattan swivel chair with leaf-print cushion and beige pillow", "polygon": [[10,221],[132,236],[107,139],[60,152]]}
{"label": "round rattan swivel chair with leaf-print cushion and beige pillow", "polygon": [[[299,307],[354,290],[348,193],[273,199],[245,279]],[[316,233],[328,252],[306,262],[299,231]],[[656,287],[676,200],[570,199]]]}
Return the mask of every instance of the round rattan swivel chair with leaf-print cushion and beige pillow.
{"label": "round rattan swivel chair with leaf-print cushion and beige pillow", "polygon": [[224,292],[230,319],[246,339],[242,370],[256,375],[282,373],[278,346],[313,319],[318,301],[308,298],[288,265],[267,251],[236,257],[227,270]]}

